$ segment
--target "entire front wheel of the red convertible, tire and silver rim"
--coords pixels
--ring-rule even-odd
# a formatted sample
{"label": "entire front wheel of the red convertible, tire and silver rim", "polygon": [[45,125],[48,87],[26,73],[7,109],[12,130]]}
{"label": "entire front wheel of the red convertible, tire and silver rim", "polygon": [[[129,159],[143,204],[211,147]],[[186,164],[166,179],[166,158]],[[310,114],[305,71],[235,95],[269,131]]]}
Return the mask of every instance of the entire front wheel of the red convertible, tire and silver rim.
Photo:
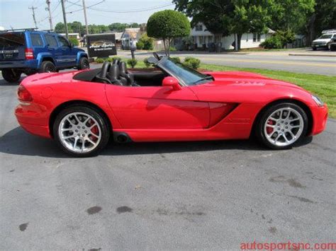
{"label": "entire front wheel of the red convertible, tire and silver rim", "polygon": [[257,122],[256,134],[265,146],[287,149],[297,144],[308,130],[306,112],[294,103],[268,107]]}

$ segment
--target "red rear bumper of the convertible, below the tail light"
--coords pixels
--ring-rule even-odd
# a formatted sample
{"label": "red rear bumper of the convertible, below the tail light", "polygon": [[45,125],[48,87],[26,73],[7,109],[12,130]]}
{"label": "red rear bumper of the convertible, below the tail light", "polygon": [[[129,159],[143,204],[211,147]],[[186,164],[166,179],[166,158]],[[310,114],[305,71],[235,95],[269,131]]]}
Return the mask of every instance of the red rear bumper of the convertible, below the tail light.
{"label": "red rear bumper of the convertible, below the tail light", "polygon": [[18,124],[30,134],[51,138],[47,117],[38,105],[18,105],[15,115]]}

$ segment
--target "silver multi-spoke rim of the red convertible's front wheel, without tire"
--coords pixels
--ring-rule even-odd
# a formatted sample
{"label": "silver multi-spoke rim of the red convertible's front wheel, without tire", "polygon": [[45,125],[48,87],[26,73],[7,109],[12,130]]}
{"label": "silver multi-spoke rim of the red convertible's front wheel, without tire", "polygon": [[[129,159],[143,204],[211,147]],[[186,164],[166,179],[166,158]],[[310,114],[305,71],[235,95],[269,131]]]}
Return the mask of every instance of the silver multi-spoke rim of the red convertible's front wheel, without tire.
{"label": "silver multi-spoke rim of the red convertible's front wheel, without tire", "polygon": [[274,146],[289,146],[300,138],[303,128],[302,115],[291,107],[285,107],[269,115],[264,124],[264,134]]}

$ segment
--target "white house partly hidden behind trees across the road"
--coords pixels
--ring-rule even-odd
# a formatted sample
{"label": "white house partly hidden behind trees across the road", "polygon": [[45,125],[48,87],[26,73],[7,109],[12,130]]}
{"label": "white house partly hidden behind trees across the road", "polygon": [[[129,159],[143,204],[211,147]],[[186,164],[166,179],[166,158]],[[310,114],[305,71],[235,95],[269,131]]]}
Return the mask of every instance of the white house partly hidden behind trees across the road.
{"label": "white house partly hidden behind trees across the road", "polygon": [[[264,40],[273,33],[275,33],[275,31],[271,29],[269,29],[267,34],[245,33],[240,40],[240,47],[242,49],[259,47],[260,43],[264,42]],[[223,49],[234,48],[232,44],[235,41],[235,35],[213,35],[213,33],[206,29],[203,23],[198,23],[198,25],[191,29],[191,38],[193,43],[197,44],[198,48],[208,47],[208,44],[211,42],[215,42],[216,44],[221,42]]]}

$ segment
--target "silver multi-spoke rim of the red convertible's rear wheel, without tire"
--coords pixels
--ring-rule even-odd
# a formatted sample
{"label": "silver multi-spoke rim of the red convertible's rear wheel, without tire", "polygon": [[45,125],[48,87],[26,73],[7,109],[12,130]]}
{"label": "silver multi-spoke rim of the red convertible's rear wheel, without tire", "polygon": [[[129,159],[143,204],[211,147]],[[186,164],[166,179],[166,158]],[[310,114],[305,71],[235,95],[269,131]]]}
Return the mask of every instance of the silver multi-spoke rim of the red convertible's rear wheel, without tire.
{"label": "silver multi-spoke rim of the red convertible's rear wheel, without tire", "polygon": [[63,117],[58,127],[63,146],[74,153],[88,153],[101,141],[99,123],[84,112],[72,112]]}

